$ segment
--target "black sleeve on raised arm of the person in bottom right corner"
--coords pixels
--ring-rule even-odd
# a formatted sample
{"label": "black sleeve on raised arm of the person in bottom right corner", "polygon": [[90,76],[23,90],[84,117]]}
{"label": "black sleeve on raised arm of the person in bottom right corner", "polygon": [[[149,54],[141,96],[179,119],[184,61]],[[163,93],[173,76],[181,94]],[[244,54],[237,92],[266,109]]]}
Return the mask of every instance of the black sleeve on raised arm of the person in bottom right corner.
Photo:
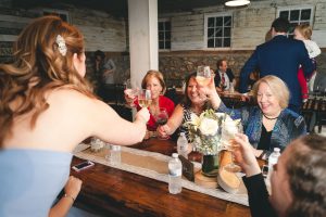
{"label": "black sleeve on raised arm of the person in bottom right corner", "polygon": [[268,192],[262,174],[242,177],[248,191],[249,206],[252,217],[276,217],[275,209],[268,201]]}

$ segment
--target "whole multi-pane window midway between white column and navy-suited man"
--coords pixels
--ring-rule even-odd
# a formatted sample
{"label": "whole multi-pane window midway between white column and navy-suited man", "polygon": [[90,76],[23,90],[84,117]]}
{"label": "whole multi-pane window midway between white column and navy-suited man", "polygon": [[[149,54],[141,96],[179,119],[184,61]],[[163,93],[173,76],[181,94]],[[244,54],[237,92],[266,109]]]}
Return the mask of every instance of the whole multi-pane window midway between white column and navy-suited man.
{"label": "whole multi-pane window midway between white column and navy-suited man", "polygon": [[229,14],[205,15],[205,42],[208,48],[229,48],[233,16]]}

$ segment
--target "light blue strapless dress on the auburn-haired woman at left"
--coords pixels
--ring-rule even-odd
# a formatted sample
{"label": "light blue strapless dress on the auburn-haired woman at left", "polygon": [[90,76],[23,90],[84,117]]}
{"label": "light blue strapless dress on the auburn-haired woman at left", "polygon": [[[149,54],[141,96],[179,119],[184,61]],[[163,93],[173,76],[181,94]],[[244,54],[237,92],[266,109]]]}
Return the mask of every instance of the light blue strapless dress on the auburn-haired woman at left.
{"label": "light blue strapless dress on the auburn-haired woman at left", "polygon": [[0,151],[0,216],[46,217],[70,176],[72,154]]}

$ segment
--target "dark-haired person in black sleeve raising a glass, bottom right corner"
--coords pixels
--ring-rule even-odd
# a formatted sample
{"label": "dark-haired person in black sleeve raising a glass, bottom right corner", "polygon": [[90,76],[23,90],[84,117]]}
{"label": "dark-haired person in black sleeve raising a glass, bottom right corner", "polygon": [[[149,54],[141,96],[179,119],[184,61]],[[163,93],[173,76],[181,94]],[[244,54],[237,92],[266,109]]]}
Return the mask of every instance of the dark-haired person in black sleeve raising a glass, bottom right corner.
{"label": "dark-haired person in black sleeve raising a glass, bottom right corner", "polygon": [[252,217],[322,217],[326,213],[326,137],[293,140],[279,156],[268,195],[261,169],[244,135],[235,157],[242,167]]}

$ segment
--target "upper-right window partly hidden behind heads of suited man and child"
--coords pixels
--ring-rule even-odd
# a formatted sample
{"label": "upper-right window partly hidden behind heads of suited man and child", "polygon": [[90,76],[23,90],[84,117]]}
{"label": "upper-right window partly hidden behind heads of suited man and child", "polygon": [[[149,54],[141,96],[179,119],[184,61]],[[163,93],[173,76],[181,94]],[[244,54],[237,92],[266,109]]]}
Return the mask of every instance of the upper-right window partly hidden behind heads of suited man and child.
{"label": "upper-right window partly hidden behind heads of suited man and child", "polygon": [[301,8],[281,8],[278,9],[278,16],[287,18],[291,27],[289,29],[289,37],[293,37],[293,30],[296,26],[300,24],[313,24],[313,8],[312,7],[301,7]]}

